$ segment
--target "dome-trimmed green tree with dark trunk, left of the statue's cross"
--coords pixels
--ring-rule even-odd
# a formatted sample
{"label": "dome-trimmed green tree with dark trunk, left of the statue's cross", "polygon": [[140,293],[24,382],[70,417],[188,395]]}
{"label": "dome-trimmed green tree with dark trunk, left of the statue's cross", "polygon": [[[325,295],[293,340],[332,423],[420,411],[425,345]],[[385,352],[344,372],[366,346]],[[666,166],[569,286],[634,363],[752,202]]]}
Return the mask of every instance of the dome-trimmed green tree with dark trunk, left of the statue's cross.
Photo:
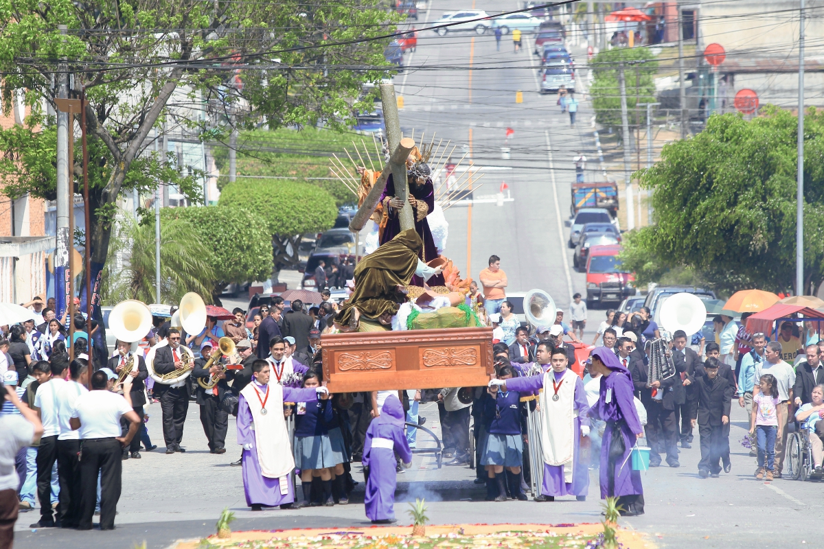
{"label": "dome-trimmed green tree with dark trunk, left of the statue's cross", "polygon": [[259,179],[255,184],[227,184],[218,207],[242,205],[271,235],[273,280],[284,268],[297,266],[297,248],[305,233],[326,230],[335,224],[335,199],[313,185],[288,179]]}

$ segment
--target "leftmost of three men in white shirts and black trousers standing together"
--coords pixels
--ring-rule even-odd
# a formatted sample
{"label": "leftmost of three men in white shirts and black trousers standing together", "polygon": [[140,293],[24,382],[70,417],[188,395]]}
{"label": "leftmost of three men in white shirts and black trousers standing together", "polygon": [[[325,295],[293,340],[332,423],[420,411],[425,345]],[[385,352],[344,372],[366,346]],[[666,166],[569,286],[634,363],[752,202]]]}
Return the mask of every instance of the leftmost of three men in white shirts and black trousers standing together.
{"label": "leftmost of three men in white shirts and black trousers standing together", "polygon": [[40,520],[31,524],[30,528],[59,526],[54,522],[51,506],[51,477],[54,462],[57,461],[57,437],[60,434],[58,395],[66,383],[63,376],[67,368],[68,361],[55,356],[51,361],[51,379],[41,383],[35,395],[35,407],[40,411],[40,421],[43,422],[43,436],[37,449],[37,499],[40,500]]}

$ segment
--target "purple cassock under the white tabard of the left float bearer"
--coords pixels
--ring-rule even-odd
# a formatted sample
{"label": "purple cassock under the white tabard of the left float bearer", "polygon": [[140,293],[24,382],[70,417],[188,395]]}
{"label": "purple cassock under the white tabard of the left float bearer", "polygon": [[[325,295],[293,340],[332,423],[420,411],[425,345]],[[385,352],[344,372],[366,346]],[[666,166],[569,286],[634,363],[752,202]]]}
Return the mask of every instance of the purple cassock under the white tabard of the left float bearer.
{"label": "purple cassock under the white tabard of the left float bearer", "polygon": [[[255,383],[254,380],[252,383]],[[246,402],[246,397],[241,394],[237,400],[237,444],[256,444],[255,430],[250,429],[253,423],[252,412]],[[315,388],[283,388],[283,402],[315,402],[316,400],[317,392]],[[284,451],[292,454],[291,448],[284,449]],[[279,479],[263,476],[255,449],[243,450],[242,465],[246,505],[274,507],[275,505],[286,505],[294,502],[295,492],[292,482],[286,483],[288,494],[281,494]]]}

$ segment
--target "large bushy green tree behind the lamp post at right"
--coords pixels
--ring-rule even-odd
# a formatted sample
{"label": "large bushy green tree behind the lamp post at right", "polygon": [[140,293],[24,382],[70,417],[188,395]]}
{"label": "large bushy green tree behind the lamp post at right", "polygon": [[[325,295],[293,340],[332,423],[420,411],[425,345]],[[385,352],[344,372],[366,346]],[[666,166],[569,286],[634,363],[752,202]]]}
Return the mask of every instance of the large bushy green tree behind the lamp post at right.
{"label": "large bushy green tree behind the lamp post at right", "polygon": [[[621,256],[640,283],[687,268],[721,291],[794,288],[798,119],[770,105],[761,112],[751,121],[713,116],[640,172],[642,186],[654,189],[656,222],[630,235]],[[809,111],[804,142],[804,282],[812,293],[824,278],[824,113]]]}

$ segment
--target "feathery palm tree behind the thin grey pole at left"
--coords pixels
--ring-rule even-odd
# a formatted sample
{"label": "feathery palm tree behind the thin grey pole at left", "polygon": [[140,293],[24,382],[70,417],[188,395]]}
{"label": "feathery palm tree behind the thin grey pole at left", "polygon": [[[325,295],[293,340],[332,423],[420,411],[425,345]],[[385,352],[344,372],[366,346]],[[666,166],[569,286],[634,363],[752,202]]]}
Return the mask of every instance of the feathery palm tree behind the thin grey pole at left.
{"label": "feathery palm tree behind the thin grey pole at left", "polygon": [[[122,267],[106,263],[103,273],[103,300],[115,305],[122,300],[154,303],[155,292],[155,224],[154,218],[138,223],[130,217],[119,220],[112,235],[109,258],[126,252],[129,263]],[[161,300],[177,304],[188,291],[211,302],[214,269],[209,263],[208,244],[199,240],[188,221],[170,219],[160,227]]]}

